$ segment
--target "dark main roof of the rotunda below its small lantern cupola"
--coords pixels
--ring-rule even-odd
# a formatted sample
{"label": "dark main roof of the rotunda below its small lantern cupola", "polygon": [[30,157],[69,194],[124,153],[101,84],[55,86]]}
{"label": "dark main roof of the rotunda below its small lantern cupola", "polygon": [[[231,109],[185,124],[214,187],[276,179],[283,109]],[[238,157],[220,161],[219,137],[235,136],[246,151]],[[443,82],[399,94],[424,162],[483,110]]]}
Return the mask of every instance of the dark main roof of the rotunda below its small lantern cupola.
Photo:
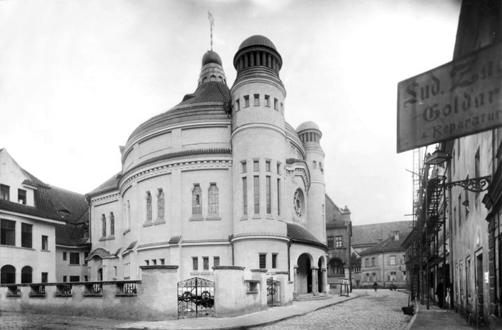
{"label": "dark main roof of the rotunda below its small lantern cupola", "polygon": [[139,125],[130,135],[127,143],[153,131],[176,123],[194,120],[229,119],[224,101],[230,101],[230,90],[222,82],[200,84],[195,92],[187,94],[183,101],[172,109],[160,113]]}

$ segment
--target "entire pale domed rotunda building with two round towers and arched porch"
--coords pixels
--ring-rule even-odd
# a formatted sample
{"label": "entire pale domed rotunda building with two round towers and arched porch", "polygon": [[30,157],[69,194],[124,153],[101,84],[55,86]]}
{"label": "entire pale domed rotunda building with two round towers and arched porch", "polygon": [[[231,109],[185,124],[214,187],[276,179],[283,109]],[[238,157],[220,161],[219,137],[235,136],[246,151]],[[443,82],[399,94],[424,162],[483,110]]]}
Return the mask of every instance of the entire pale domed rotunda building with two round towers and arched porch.
{"label": "entire pale domed rotunda building with two round towers and arched porch", "polygon": [[247,38],[229,89],[208,51],[195,91],[132,132],[121,171],[86,195],[91,280],[163,264],[179,280],[212,279],[232,265],[287,274],[295,294],[326,292],[322,132],[286,122],[282,61],[268,38]]}

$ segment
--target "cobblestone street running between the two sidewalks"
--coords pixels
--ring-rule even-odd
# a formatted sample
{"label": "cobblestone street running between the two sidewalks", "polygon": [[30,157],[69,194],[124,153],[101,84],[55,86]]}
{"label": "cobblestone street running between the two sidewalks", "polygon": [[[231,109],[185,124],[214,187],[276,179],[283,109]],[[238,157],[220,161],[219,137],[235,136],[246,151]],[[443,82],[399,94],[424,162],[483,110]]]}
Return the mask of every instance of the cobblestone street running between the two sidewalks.
{"label": "cobblestone street running between the two sidewalks", "polygon": [[362,297],[316,310],[303,316],[253,329],[404,329],[411,316],[401,307],[408,303],[408,295],[388,289],[357,290]]}

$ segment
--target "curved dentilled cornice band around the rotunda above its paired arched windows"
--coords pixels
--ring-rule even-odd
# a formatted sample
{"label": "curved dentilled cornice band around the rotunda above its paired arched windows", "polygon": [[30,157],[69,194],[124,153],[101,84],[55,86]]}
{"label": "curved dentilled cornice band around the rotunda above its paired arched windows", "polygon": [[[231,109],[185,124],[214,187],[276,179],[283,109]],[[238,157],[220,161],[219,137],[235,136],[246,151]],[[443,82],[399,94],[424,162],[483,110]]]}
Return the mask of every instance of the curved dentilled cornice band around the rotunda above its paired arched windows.
{"label": "curved dentilled cornice band around the rotunda above its paired arched windows", "polygon": [[121,182],[120,195],[129,189],[133,183],[140,182],[149,178],[157,177],[163,174],[171,173],[173,170],[196,170],[196,169],[214,169],[214,168],[230,168],[232,166],[231,159],[216,159],[216,160],[193,160],[193,161],[178,161],[171,164],[157,165],[143,170],[138,170],[136,173],[124,177]]}

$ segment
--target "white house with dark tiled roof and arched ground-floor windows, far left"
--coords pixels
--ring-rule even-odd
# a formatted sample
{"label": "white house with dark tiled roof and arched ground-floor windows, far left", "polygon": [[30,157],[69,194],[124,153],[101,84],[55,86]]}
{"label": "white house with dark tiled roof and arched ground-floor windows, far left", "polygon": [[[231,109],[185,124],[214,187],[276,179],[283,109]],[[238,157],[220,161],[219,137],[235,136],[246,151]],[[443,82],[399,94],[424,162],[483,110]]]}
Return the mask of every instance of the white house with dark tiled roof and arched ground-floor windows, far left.
{"label": "white house with dark tiled roof and arched ground-floor windows, far left", "polygon": [[81,263],[61,259],[65,251],[84,257],[87,215],[83,195],[43,183],[0,149],[1,283],[56,282],[65,275],[84,281]]}

